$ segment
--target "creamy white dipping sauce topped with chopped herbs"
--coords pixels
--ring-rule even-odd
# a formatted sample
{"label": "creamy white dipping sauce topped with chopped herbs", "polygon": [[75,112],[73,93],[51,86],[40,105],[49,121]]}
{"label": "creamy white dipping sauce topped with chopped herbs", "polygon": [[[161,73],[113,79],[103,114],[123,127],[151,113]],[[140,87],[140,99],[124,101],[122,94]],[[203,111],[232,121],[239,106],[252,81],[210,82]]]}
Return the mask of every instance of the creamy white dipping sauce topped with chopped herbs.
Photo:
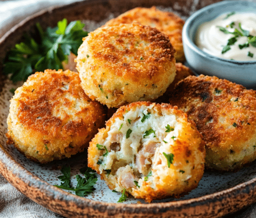
{"label": "creamy white dipping sauce topped with chopped herbs", "polygon": [[[239,36],[236,36],[236,34],[223,32],[225,30],[229,32],[239,30],[243,33],[239,23],[241,23],[243,30],[249,31],[249,37],[241,36],[240,33],[238,33]],[[221,27],[223,27],[223,31],[220,30]],[[248,43],[249,38],[253,36],[256,36],[256,13],[232,12],[222,14],[214,20],[200,25],[195,43],[200,49],[213,56],[229,60],[255,61],[256,47]],[[228,45],[231,38],[233,39]]]}

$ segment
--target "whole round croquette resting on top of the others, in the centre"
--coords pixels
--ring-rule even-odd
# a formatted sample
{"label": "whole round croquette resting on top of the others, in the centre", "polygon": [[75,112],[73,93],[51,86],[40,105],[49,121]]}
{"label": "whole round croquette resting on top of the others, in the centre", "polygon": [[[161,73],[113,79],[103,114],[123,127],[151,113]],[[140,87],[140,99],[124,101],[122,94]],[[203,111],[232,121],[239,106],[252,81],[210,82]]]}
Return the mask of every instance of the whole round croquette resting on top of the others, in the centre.
{"label": "whole round croquette resting on top of the others, in the centre", "polygon": [[89,33],[76,62],[85,93],[108,108],[157,99],[176,71],[168,37],[137,23]]}

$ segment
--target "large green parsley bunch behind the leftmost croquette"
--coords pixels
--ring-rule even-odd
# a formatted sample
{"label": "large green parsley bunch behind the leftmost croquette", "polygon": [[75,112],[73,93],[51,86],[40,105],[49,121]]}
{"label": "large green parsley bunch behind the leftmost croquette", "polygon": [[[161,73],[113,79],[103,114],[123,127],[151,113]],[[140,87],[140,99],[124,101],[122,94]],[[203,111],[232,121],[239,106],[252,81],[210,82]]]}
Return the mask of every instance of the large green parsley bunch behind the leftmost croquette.
{"label": "large green parsley bunch behind the leftmost croquette", "polygon": [[82,30],[84,25],[79,20],[67,25],[67,19],[64,18],[56,27],[48,27],[43,31],[41,25],[36,23],[37,34],[25,35],[24,41],[7,52],[3,73],[11,74],[10,79],[15,83],[25,81],[37,71],[62,69],[62,62],[67,60],[70,52],[77,55],[83,37],[88,35]]}

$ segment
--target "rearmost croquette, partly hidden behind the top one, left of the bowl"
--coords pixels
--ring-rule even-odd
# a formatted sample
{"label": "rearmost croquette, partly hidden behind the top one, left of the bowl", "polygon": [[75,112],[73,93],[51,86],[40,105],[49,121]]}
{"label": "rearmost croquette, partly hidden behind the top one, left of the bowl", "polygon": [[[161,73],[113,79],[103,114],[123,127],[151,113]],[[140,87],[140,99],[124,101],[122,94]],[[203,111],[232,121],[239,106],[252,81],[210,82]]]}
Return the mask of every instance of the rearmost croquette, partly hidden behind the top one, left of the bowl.
{"label": "rearmost croquette, partly hidden behind the top one, left of the bowl", "polygon": [[164,12],[155,8],[136,7],[131,9],[117,18],[111,19],[106,25],[117,25],[120,23],[138,22],[145,26],[154,27],[166,34],[174,49],[176,50],[175,58],[177,62],[184,62],[185,55],[182,44],[182,28],[184,20],[179,16]]}

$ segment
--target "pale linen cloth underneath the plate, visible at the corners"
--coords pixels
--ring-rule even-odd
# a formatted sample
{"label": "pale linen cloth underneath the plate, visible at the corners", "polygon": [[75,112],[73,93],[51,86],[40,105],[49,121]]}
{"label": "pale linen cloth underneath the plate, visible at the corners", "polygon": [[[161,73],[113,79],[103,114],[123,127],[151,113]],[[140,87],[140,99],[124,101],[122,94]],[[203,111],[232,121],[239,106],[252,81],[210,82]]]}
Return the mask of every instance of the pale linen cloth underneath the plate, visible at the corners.
{"label": "pale linen cloth underneath the plate, visible at the corners", "polygon": [[[0,37],[25,17],[51,6],[80,0],[0,1]],[[29,8],[29,9],[28,9]],[[0,218],[63,218],[34,203],[18,192],[0,175]],[[225,218],[256,218],[256,204]]]}

